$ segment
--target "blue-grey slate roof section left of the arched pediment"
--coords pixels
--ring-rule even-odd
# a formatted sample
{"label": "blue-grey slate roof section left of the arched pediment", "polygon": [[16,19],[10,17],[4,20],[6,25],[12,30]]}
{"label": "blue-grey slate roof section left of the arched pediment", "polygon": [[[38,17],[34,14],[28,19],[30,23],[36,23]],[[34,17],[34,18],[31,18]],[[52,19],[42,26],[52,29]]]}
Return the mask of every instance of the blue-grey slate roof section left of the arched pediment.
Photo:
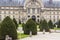
{"label": "blue-grey slate roof section left of the arched pediment", "polygon": [[0,6],[23,6],[19,0],[0,0]]}

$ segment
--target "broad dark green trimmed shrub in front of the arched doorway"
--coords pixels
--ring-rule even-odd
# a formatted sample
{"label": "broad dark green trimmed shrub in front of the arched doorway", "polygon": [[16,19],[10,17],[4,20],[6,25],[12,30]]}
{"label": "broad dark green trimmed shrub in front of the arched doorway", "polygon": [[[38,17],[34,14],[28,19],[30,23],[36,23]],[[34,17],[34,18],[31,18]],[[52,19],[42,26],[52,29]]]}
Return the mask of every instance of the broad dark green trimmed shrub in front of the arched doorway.
{"label": "broad dark green trimmed shrub in front of the arched doorway", "polygon": [[25,24],[24,34],[30,34],[30,31],[32,31],[32,35],[37,34],[37,25],[32,19],[29,19]]}

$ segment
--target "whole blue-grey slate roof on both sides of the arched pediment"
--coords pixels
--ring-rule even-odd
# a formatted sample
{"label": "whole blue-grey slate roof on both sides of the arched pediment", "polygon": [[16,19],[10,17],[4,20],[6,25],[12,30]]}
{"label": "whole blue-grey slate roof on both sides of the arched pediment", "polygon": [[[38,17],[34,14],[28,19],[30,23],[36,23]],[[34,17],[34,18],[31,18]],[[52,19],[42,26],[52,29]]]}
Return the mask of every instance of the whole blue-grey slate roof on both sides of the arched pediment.
{"label": "whole blue-grey slate roof on both sides of the arched pediment", "polygon": [[[25,0],[0,0],[0,6],[24,6]],[[60,1],[43,0],[44,7],[60,7]]]}

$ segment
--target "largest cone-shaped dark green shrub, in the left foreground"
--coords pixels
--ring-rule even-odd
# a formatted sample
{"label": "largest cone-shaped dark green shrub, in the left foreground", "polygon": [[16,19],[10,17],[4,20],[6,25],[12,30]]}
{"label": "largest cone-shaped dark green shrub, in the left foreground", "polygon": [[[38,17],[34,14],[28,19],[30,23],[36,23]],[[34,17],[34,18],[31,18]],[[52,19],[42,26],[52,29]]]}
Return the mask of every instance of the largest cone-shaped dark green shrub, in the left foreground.
{"label": "largest cone-shaped dark green shrub, in the left foreground", "polygon": [[1,40],[5,40],[6,35],[12,37],[12,40],[17,39],[16,26],[8,16],[2,21],[0,32],[1,32],[0,34]]}

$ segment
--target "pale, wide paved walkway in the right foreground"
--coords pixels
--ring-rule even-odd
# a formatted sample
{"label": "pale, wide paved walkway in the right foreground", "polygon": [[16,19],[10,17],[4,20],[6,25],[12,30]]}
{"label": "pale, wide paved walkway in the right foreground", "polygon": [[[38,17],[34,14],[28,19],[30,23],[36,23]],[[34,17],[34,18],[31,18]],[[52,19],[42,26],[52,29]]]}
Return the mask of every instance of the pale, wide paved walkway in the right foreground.
{"label": "pale, wide paved walkway in the right foreground", "polygon": [[27,37],[20,40],[60,40],[60,33],[48,33],[43,34],[42,32],[38,32],[37,35],[32,37]]}

